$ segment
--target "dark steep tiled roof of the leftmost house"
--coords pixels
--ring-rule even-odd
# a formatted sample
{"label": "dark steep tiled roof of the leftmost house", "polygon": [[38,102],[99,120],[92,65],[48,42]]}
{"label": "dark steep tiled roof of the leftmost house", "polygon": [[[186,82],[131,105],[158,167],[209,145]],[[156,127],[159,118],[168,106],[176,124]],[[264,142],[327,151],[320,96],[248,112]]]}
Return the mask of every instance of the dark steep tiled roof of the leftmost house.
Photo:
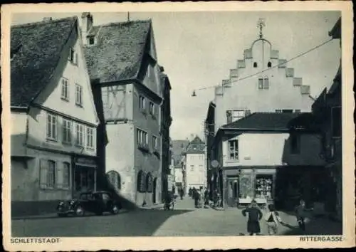
{"label": "dark steep tiled roof of the leftmost house", "polygon": [[48,84],[77,18],[11,26],[11,106],[27,107]]}

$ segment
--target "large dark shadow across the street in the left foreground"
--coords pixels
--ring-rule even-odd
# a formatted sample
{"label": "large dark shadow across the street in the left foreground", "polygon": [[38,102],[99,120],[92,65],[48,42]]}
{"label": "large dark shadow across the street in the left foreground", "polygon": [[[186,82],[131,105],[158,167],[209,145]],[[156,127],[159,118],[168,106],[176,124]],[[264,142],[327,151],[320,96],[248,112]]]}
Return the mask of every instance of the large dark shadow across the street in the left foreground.
{"label": "large dark shadow across the street in the left foreground", "polygon": [[11,221],[14,237],[152,236],[167,219],[190,210],[137,209],[121,214]]}

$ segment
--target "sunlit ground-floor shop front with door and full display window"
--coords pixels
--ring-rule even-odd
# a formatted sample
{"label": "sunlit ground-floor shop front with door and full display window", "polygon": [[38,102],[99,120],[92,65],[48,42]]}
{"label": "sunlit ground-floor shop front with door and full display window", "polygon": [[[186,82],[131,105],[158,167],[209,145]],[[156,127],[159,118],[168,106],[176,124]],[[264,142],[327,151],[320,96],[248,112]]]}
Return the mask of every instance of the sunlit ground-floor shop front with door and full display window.
{"label": "sunlit ground-floor shop front with door and full display window", "polygon": [[238,167],[223,169],[224,206],[245,206],[255,199],[258,204],[273,202],[276,167]]}

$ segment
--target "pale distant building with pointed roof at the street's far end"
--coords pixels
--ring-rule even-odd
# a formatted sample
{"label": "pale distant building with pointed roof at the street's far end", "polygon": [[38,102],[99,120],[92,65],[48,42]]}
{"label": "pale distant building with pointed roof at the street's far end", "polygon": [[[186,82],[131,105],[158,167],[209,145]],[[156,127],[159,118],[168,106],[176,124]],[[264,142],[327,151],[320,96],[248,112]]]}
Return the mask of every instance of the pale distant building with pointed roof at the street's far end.
{"label": "pale distant building with pointed roof at the street's far end", "polygon": [[189,142],[184,151],[184,171],[185,171],[185,192],[188,193],[190,187],[206,187],[206,159],[205,143],[199,137],[195,137]]}

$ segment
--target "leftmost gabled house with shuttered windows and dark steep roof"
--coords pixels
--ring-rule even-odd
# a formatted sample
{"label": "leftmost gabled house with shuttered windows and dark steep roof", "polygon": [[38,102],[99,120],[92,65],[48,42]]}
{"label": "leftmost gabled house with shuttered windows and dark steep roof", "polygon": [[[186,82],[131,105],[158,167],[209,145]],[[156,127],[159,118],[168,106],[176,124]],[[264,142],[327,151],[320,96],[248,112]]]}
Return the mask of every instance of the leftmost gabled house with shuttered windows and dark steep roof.
{"label": "leftmost gabled house with shuttered windows and dark steep roof", "polygon": [[11,214],[94,189],[93,103],[78,19],[11,26]]}

